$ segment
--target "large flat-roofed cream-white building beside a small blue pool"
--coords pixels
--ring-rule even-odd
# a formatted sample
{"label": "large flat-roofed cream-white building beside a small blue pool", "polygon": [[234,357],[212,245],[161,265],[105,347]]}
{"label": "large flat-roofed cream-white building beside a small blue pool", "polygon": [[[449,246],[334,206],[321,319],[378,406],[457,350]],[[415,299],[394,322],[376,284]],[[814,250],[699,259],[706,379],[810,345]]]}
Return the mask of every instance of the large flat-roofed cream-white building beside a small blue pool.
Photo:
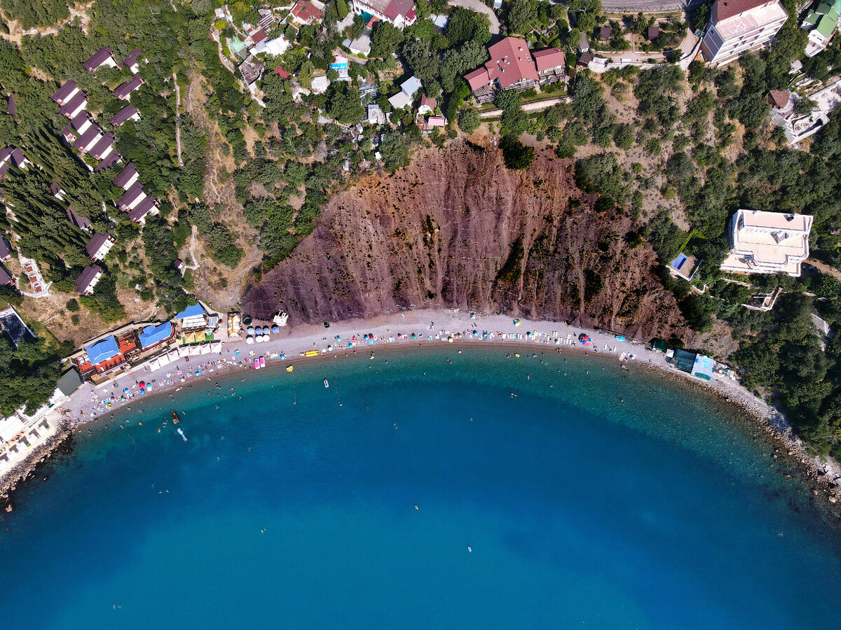
{"label": "large flat-roofed cream-white building beside a small blue pool", "polygon": [[801,263],[809,257],[808,214],[738,210],[730,219],[730,254],[722,271],[739,274],[800,276]]}

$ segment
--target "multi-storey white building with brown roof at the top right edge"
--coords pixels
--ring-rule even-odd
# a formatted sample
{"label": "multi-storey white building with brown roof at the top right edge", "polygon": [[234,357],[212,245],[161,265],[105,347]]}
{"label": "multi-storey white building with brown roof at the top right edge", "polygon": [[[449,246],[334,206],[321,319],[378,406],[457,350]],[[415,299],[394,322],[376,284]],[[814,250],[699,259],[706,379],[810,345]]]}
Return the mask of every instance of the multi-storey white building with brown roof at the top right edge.
{"label": "multi-storey white building with brown roof at the top right edge", "polygon": [[704,60],[724,66],[748,50],[767,45],[788,13],[777,0],[716,0],[710,28],[701,41]]}

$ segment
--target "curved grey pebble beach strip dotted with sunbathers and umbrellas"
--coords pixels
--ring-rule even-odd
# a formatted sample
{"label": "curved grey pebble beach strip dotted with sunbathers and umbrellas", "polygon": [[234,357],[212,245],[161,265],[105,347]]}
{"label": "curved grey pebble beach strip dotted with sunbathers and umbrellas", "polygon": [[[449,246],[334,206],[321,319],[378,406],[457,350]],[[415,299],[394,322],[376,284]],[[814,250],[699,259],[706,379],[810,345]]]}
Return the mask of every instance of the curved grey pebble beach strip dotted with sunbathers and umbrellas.
{"label": "curved grey pebble beach strip dotted with sunbathers and umbrellas", "polygon": [[[821,482],[823,491],[830,493],[830,500],[838,496],[836,484],[841,480],[841,465],[833,459],[822,460],[807,454],[785,417],[730,376],[716,374],[712,381],[701,381],[669,365],[663,353],[650,350],[637,340],[617,339],[611,333],[567,326],[563,322],[519,321],[516,325],[505,315],[472,317],[468,312],[421,310],[335,322],[330,328],[321,324],[299,324],[281,328],[280,333],[272,334],[271,339],[262,344],[229,339],[223,342],[221,354],[193,356],[189,361],[179,360],[159,370],[150,370],[148,365],[138,366],[100,386],[85,383],[58,411],[71,430],[81,431],[83,423],[107,421],[114,411],[131,407],[133,402],[161,395],[172,395],[174,399],[177,391],[189,388],[193,383],[198,385],[208,378],[251,370],[254,359],[260,356],[265,358],[267,366],[295,365],[299,361],[332,359],[354,351],[358,354],[383,348],[410,349],[419,344],[517,344],[523,349],[532,347],[543,352],[548,349],[584,352],[614,359],[624,355],[632,369],[663,370],[687,384],[711,388],[728,402],[738,405],[779,443],[780,456],[798,459],[815,476],[816,482]],[[594,343],[587,347],[579,344],[579,333],[589,334]],[[319,354],[301,356],[311,350],[317,350]],[[140,382],[152,384],[145,396],[140,396]],[[7,483],[3,486],[8,486],[9,480],[4,481]]]}

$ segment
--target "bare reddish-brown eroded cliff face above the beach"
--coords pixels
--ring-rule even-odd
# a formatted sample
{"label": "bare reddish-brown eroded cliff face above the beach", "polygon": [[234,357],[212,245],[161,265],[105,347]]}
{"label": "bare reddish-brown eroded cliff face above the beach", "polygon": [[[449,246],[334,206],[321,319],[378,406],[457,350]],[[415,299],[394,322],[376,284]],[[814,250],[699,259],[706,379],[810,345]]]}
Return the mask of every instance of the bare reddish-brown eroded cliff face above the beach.
{"label": "bare reddish-brown eroded cliff face above the beach", "polygon": [[413,307],[567,319],[642,339],[682,333],[632,220],[597,213],[572,166],[539,155],[508,171],[453,142],[334,197],[294,255],[249,287],[247,312],[318,322]]}

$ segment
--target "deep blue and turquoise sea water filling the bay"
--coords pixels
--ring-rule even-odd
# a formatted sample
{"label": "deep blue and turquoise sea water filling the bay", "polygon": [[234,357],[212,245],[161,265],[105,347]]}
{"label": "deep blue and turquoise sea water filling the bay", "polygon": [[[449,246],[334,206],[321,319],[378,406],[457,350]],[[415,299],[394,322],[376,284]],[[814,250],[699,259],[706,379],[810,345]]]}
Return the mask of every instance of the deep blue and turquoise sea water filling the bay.
{"label": "deep blue and turquoise sea water filling the bay", "polygon": [[135,405],[0,517],[3,627],[838,627],[838,531],[743,423],[519,352],[205,381],[187,442]]}

